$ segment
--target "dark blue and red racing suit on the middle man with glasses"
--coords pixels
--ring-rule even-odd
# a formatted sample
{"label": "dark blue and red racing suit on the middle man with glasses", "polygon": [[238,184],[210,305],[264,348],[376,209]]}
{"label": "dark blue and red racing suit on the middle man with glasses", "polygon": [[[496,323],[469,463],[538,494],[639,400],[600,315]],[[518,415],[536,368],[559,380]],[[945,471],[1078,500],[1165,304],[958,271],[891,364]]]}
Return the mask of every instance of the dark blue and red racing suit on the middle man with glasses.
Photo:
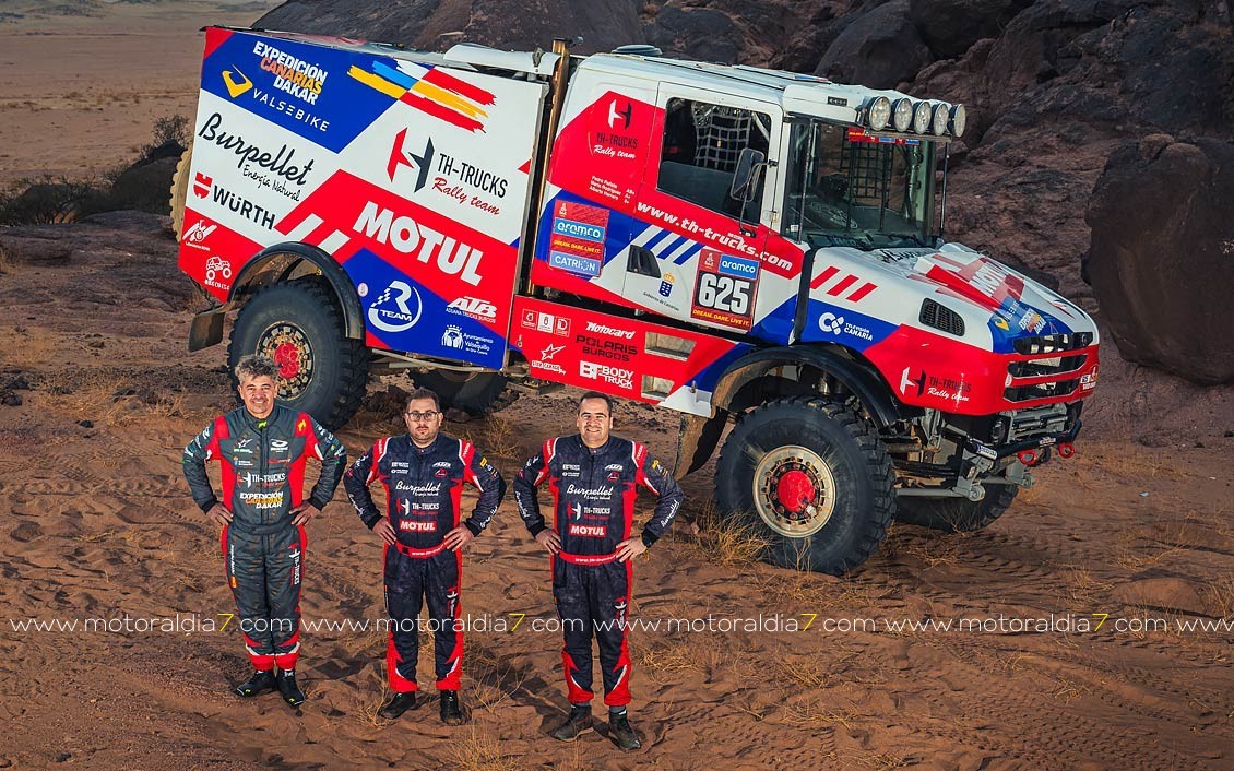
{"label": "dark blue and red racing suit on the middle man with glasses", "polygon": [[369,485],[381,482],[397,542],[386,544],[385,601],[390,616],[386,675],[395,693],[417,690],[420,606],[428,602],[438,691],[458,691],[463,674],[460,583],[463,553],[443,539],[459,526],[463,484],[480,492],[463,522],[479,535],[506,495],[506,482],[470,442],[438,434],[421,448],[411,437],[379,439],[343,477],[347,496],[369,529],[381,521]]}

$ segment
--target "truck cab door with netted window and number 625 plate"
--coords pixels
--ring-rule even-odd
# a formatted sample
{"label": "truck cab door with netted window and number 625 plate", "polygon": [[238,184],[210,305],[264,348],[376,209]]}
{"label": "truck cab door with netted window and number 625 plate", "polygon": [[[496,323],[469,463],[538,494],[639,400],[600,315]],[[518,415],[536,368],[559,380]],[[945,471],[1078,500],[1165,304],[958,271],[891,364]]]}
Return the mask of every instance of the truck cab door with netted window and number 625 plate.
{"label": "truck cab door with netted window and number 625 plate", "polygon": [[[653,313],[749,332],[759,318],[761,255],[775,190],[761,165],[748,201],[729,195],[742,150],[780,147],[771,102],[661,83],[624,254],[623,295]],[[770,174],[769,174],[770,173]]]}

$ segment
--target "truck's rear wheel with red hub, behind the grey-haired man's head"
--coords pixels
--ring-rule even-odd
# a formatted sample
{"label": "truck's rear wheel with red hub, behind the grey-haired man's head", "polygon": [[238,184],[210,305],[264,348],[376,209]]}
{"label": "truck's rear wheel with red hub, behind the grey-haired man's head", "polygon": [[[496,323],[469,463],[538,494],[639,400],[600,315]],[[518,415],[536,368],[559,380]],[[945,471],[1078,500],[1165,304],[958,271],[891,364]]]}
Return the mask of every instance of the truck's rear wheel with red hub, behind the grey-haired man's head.
{"label": "truck's rear wheel with red hub, behind the grey-haired man's head", "polygon": [[232,327],[228,369],[251,353],[279,365],[280,401],[326,428],[341,428],[360,406],[369,349],[344,334],[334,296],[315,281],[267,286],[244,303]]}

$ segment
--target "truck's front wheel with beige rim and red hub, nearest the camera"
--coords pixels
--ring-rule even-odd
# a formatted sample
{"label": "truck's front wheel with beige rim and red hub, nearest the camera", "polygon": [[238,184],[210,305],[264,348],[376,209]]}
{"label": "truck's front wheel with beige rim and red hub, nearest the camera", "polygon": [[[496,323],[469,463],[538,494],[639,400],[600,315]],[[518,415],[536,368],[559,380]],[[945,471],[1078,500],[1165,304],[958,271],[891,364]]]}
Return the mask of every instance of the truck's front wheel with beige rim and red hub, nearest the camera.
{"label": "truck's front wheel with beige rim and red hub, nearest the camera", "polygon": [[817,396],[742,416],[716,465],[721,516],[765,538],[768,561],[833,575],[882,543],[896,511],[893,480],[870,424]]}

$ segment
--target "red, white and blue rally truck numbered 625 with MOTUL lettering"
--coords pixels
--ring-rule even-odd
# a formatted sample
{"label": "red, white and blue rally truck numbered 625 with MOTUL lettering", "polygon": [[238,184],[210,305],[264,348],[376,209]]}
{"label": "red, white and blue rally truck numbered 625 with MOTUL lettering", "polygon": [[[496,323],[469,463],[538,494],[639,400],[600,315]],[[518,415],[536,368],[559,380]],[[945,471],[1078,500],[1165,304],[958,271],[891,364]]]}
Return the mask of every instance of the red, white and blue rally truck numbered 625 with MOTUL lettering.
{"label": "red, white and blue rally truck numbered 625 with MOTUL lettering", "polygon": [[963,105],[666,58],[211,27],[175,191],[216,301],[329,427],[370,374],[680,413],[679,475],[776,564],[975,529],[1070,456],[1097,329],[943,234]]}

